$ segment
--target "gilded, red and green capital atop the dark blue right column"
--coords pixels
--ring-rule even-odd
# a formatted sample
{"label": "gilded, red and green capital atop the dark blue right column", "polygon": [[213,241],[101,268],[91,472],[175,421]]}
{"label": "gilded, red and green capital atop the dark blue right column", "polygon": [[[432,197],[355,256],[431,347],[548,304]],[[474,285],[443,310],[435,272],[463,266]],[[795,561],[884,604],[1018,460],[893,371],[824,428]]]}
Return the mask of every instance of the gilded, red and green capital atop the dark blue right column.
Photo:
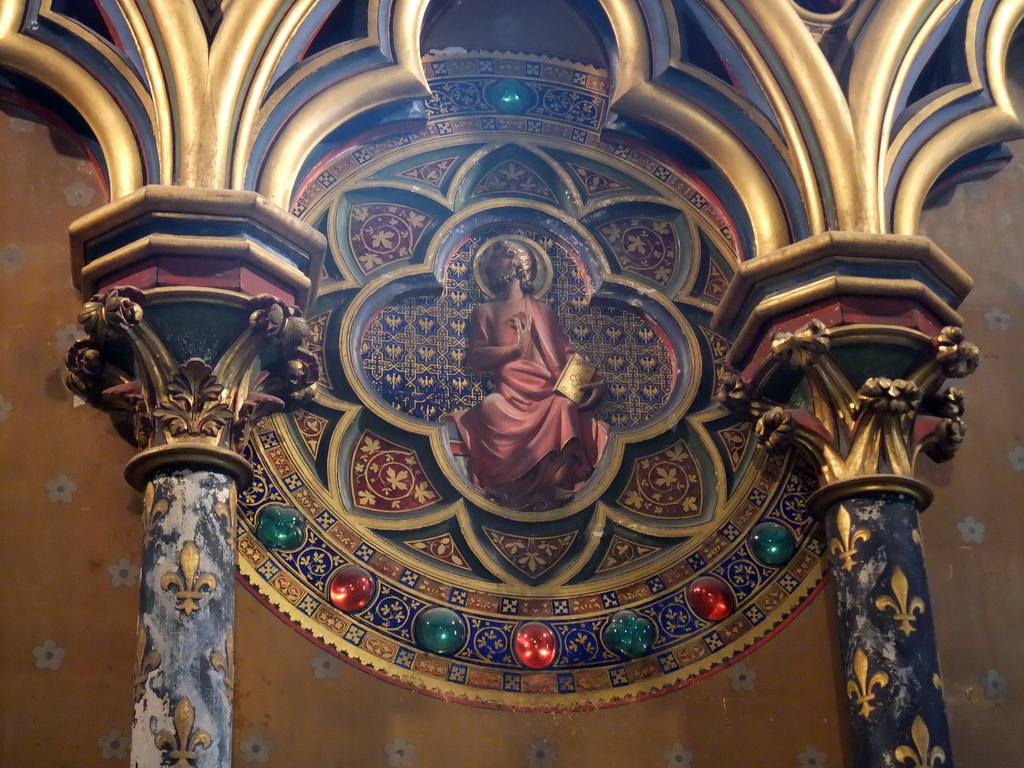
{"label": "gilded, red and green capital atop the dark blue right column", "polygon": [[951,459],[967,432],[944,382],[978,366],[953,309],[970,285],[924,238],[828,232],[748,262],[715,317],[736,339],[719,400],[769,452],[812,456],[829,501],[867,483],[927,502],[916,457]]}

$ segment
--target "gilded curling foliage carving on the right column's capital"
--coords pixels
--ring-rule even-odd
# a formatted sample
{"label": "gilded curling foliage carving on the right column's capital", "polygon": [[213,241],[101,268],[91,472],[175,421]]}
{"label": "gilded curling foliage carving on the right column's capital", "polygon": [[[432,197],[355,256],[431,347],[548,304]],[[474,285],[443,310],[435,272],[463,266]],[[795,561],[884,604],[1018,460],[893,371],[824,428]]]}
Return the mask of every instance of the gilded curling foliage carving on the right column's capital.
{"label": "gilded curling foliage carving on the right column's capital", "polygon": [[839,364],[835,346],[836,334],[818,319],[773,335],[772,357],[804,374],[806,402],[759,399],[754,387],[729,371],[720,376],[719,400],[755,421],[755,434],[769,452],[792,442],[803,446],[816,458],[825,483],[876,474],[910,477],[922,452],[935,461],[952,458],[967,432],[964,392],[939,387],[947,377],[972,373],[979,358],[961,329],[942,329],[931,341],[934,354],[923,346],[922,360],[902,378],[874,376],[860,386]]}

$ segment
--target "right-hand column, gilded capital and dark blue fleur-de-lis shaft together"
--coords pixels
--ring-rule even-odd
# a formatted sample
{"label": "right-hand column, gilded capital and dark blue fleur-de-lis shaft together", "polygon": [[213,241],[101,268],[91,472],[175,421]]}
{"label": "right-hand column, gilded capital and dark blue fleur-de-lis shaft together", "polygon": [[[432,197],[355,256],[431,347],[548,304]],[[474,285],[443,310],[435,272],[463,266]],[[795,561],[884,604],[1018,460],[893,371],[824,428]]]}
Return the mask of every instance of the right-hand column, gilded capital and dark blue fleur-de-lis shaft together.
{"label": "right-hand column, gilded capital and dark blue fleur-de-lis shaft together", "polygon": [[830,232],[743,265],[716,316],[736,338],[722,402],[819,469],[808,511],[827,536],[856,768],[953,765],[918,525],[932,494],[912,474],[966,432],[963,393],[942,385],[977,367],[950,306],[969,288],[923,238]]}

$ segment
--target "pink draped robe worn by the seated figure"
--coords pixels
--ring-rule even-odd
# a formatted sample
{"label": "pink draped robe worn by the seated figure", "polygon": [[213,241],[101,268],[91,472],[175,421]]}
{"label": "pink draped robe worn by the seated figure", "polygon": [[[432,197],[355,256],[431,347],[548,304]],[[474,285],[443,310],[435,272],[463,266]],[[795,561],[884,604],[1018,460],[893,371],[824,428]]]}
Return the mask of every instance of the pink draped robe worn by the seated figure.
{"label": "pink draped robe worn by the seated figure", "polygon": [[[520,311],[531,319],[529,346],[494,371],[496,392],[453,419],[474,483],[513,509],[550,509],[570,499],[593,472],[607,426],[554,391],[575,350],[551,307],[531,296],[522,301]],[[515,344],[516,331],[495,316],[497,306],[473,310],[470,357],[475,349]]]}

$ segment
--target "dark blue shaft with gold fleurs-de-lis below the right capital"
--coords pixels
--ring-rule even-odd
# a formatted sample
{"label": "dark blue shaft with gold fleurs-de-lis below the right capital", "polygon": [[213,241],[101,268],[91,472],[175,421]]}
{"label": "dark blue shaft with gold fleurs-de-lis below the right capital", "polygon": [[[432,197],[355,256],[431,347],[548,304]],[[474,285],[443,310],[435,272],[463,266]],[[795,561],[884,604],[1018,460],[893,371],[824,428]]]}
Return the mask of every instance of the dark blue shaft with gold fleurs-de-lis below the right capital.
{"label": "dark blue shaft with gold fleurs-de-lis below the right capital", "polygon": [[825,514],[855,768],[951,768],[916,495],[871,490]]}

